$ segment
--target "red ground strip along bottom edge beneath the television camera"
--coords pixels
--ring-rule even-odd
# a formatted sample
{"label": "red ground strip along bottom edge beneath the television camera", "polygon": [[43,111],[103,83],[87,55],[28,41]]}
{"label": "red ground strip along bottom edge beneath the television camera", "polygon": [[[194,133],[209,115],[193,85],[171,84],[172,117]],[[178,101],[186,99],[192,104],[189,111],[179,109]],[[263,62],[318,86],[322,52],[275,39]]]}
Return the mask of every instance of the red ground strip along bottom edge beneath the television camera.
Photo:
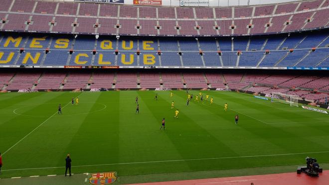
{"label": "red ground strip along bottom edge beneath the television camera", "polygon": [[187,181],[169,181],[161,183],[144,183],[135,185],[329,185],[329,170],[319,177],[309,177],[302,173],[270,174]]}

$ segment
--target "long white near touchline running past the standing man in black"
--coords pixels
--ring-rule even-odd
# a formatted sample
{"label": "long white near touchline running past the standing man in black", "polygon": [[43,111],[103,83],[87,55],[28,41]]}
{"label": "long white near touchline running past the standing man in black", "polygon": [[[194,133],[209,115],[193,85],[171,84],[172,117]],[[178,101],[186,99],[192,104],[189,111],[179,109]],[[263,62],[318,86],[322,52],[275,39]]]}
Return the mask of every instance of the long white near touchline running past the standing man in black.
{"label": "long white near touchline running past the standing man in black", "polygon": [[[289,154],[270,154],[270,155],[256,155],[256,156],[216,157],[216,158],[201,158],[201,159],[178,159],[178,160],[167,160],[167,161],[145,161],[145,162],[132,162],[132,163],[112,163],[112,164],[99,164],[99,165],[79,165],[79,166],[72,166],[72,168],[112,166],[112,165],[132,165],[132,164],[147,164],[147,163],[167,163],[167,162],[181,162],[181,161],[204,161],[204,160],[217,160],[217,159],[255,158],[255,157],[271,157],[271,156],[289,156],[289,155],[321,154],[321,153],[329,153],[329,151],[302,152],[302,153],[289,153]],[[65,168],[65,167],[24,168],[24,169],[10,169],[10,170],[2,170],[2,171],[40,170],[40,169],[56,169],[56,168]]]}

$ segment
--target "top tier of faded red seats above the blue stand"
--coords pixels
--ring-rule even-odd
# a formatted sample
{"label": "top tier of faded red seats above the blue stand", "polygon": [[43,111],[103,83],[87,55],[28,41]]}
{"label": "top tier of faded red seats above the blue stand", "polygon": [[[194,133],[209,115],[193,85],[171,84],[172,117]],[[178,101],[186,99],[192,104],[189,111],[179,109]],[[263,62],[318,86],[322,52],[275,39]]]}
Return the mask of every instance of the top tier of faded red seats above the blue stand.
{"label": "top tier of faded red seats above the blue stand", "polygon": [[329,0],[248,7],[149,7],[1,0],[0,31],[231,36],[328,28]]}

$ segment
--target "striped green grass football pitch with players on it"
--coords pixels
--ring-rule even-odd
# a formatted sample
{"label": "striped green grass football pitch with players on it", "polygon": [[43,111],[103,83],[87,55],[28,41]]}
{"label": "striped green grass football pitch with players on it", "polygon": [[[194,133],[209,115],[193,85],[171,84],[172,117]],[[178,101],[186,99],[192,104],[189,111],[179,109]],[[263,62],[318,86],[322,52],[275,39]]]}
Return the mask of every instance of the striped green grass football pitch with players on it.
{"label": "striped green grass football pitch with players on it", "polygon": [[299,165],[307,156],[329,163],[328,114],[238,92],[202,93],[214,103],[187,106],[185,91],[1,93],[0,178],[63,174],[67,154],[72,173],[120,177]]}

